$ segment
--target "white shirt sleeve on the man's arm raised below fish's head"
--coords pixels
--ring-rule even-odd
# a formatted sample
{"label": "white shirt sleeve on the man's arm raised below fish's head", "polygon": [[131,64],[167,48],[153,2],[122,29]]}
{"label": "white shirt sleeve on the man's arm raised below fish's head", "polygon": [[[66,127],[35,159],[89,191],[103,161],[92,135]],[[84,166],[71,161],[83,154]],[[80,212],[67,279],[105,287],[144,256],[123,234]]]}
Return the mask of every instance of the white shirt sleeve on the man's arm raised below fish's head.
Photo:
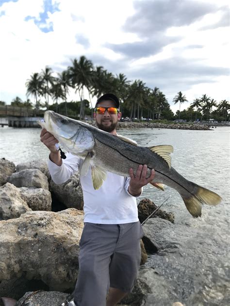
{"label": "white shirt sleeve on the man's arm raised below fish's head", "polygon": [[48,168],[51,178],[55,184],[65,183],[71,175],[78,171],[81,158],[71,153],[66,153],[66,159],[62,160],[62,165],[57,166],[50,159],[48,160]]}

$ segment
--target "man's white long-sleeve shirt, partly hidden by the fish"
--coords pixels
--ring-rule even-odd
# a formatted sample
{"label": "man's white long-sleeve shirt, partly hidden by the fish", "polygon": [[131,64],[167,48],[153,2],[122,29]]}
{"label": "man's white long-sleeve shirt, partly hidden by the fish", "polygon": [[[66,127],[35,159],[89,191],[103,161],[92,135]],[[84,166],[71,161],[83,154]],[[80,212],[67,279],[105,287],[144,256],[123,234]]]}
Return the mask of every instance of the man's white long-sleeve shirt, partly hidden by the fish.
{"label": "man's white long-sleeve shirt, partly hidden by the fish", "polygon": [[[83,160],[71,153],[66,154],[59,167],[48,161],[49,172],[56,184],[65,183],[78,171]],[[80,177],[84,200],[84,221],[98,224],[123,224],[138,221],[136,198],[129,191],[130,178],[106,172],[102,186],[95,190],[91,169]]]}

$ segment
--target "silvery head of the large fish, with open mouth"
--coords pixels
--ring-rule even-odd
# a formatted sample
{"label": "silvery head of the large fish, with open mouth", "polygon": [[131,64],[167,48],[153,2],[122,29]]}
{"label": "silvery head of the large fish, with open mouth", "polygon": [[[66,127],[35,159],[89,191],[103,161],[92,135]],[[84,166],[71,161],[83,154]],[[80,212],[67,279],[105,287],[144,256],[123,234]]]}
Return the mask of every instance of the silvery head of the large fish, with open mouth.
{"label": "silvery head of the large fish, with open mouth", "polygon": [[94,138],[87,125],[78,120],[62,116],[52,110],[45,111],[46,129],[70,153],[81,155],[94,147]]}

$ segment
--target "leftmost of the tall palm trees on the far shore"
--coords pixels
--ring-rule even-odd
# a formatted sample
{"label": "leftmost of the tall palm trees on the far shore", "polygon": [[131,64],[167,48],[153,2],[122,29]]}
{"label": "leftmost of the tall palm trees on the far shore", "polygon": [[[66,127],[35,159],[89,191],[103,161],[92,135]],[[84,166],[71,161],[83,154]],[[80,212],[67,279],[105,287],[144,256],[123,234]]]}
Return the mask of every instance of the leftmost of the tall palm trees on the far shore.
{"label": "leftmost of the tall palm trees on the far shore", "polygon": [[33,95],[35,97],[35,109],[39,109],[40,102],[38,101],[38,96],[41,94],[42,79],[37,72],[31,75],[31,78],[27,80],[27,96]]}

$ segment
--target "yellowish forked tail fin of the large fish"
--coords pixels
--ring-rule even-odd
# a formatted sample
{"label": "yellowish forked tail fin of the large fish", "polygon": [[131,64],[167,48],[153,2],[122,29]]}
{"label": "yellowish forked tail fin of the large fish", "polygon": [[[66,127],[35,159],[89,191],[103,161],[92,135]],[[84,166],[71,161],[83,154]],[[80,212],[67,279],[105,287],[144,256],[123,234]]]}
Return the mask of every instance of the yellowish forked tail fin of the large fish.
{"label": "yellowish forked tail fin of the large fish", "polygon": [[189,198],[183,198],[184,204],[194,217],[201,216],[202,203],[207,205],[217,205],[221,202],[222,198],[215,192],[208,190],[204,187],[197,185],[197,192]]}

